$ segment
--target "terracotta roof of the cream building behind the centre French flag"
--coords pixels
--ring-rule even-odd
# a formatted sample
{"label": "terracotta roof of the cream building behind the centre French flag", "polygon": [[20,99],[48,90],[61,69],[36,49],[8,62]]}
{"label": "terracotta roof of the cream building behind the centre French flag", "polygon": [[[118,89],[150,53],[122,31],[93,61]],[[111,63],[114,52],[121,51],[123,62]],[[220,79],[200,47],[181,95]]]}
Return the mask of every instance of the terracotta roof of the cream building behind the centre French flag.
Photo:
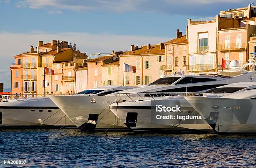
{"label": "terracotta roof of the cream building behind the centre French flag", "polygon": [[147,46],[143,46],[142,48],[138,48],[135,51],[128,51],[126,53],[123,53],[119,56],[131,56],[131,55],[151,55],[151,54],[164,54],[165,48],[160,50],[159,45],[151,46],[150,49],[148,49]]}

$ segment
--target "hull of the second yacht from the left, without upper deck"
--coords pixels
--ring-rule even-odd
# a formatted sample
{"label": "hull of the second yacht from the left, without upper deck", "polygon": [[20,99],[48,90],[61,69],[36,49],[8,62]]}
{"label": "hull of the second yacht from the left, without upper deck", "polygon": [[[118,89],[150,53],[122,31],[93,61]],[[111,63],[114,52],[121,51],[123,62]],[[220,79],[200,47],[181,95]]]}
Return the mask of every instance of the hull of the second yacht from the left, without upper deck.
{"label": "hull of the second yacht from the left, without upper deck", "polygon": [[84,125],[89,123],[90,114],[96,114],[95,130],[128,130],[118,118],[108,109],[115,102],[115,96],[50,96],[51,100],[69,117],[72,122],[84,131]]}

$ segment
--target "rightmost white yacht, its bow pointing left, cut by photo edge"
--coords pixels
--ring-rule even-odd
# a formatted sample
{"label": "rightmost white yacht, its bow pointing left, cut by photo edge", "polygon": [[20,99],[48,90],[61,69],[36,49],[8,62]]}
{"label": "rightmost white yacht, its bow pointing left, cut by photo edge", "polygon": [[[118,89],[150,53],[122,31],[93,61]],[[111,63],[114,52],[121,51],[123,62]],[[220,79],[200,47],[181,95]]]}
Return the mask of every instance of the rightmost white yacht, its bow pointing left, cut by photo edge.
{"label": "rightmost white yacht, its bow pointing left, cut by photo edge", "polygon": [[218,133],[256,133],[256,87],[223,97],[184,97]]}

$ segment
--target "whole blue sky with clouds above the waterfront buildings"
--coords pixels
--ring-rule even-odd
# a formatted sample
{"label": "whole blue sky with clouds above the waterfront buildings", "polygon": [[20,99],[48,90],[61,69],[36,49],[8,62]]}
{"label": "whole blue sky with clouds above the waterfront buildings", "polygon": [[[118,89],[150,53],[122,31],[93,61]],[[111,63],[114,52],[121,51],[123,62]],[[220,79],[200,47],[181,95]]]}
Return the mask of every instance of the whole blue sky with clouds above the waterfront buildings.
{"label": "whole blue sky with clouds above the waterfront buildings", "polygon": [[76,43],[91,53],[169,41],[188,18],[247,7],[251,0],[0,0],[0,82],[10,87],[14,55],[38,41]]}

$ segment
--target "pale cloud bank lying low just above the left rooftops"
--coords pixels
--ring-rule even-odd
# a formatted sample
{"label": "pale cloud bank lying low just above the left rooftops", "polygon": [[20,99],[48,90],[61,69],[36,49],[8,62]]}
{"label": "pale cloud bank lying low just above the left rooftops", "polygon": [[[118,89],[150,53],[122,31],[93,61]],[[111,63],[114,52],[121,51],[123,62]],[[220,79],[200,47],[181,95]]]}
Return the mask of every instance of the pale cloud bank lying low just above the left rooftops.
{"label": "pale cloud bank lying low just above the left rooftops", "polygon": [[112,50],[125,51],[129,50],[131,45],[157,44],[169,41],[172,37],[149,37],[149,36],[125,36],[114,34],[89,34],[76,32],[63,32],[47,34],[41,31],[33,33],[8,33],[0,32],[0,79],[4,82],[5,88],[10,87],[10,70],[9,67],[14,62],[13,56],[28,51],[30,45],[37,46],[38,41],[48,43],[51,40],[68,41],[76,43],[77,49],[81,52],[90,53],[110,53]]}

